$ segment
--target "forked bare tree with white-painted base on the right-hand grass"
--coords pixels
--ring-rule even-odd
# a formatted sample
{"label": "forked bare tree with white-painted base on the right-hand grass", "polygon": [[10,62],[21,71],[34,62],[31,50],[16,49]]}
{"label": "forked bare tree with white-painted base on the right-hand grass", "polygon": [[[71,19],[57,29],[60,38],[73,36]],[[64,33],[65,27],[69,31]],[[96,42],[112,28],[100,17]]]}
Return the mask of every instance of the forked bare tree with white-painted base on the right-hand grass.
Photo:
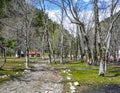
{"label": "forked bare tree with white-painted base on the right-hand grass", "polygon": [[[113,2],[113,0],[112,0],[112,2],[111,2],[112,8],[111,8],[111,16],[110,16],[110,26],[108,27],[106,39],[104,41],[103,36],[101,34],[102,31],[101,31],[100,22],[99,22],[98,0],[94,0],[95,35],[97,35],[97,37],[98,37],[98,39],[95,38],[97,41],[95,41],[94,46],[96,47],[97,43],[98,43],[99,57],[100,57],[99,58],[99,61],[100,61],[99,75],[100,76],[104,76],[104,74],[107,70],[106,61],[107,61],[107,54],[108,54],[108,50],[109,50],[109,46],[110,46],[112,28],[113,28],[114,22],[117,20],[117,18],[120,15],[120,13],[118,13],[117,16],[113,18],[113,11],[114,11],[114,8],[116,7],[117,2],[118,2],[117,0],[115,2]],[[95,49],[95,51],[97,51],[97,50]]]}

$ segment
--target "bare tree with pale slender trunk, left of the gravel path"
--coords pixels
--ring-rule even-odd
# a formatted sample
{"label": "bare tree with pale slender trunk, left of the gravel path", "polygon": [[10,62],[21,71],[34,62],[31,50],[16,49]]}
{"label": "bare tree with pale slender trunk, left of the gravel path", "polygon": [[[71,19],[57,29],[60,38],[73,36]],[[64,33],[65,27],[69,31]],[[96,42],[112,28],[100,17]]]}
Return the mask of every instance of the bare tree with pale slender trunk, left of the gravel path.
{"label": "bare tree with pale slender trunk, left of the gravel path", "polygon": [[[14,29],[17,33],[19,31],[22,32],[23,37],[22,43],[25,47],[25,55],[26,55],[26,69],[29,69],[29,38],[31,31],[31,23],[33,18],[35,17],[35,8],[30,2],[26,2],[25,0],[12,0],[10,6],[8,7],[8,15],[7,20],[13,20],[15,18],[16,25],[8,24],[6,21],[1,20],[2,23]],[[5,19],[5,20],[6,20]],[[20,38],[19,38],[20,39]]]}

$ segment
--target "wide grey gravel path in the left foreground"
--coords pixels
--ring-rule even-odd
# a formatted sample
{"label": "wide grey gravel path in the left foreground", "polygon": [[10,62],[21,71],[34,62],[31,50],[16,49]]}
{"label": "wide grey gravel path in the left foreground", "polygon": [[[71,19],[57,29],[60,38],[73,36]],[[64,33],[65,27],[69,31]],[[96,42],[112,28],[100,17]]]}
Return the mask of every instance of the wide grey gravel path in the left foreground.
{"label": "wide grey gravel path in the left foreground", "polygon": [[33,65],[31,72],[0,85],[0,93],[63,93],[59,72],[46,63]]}

